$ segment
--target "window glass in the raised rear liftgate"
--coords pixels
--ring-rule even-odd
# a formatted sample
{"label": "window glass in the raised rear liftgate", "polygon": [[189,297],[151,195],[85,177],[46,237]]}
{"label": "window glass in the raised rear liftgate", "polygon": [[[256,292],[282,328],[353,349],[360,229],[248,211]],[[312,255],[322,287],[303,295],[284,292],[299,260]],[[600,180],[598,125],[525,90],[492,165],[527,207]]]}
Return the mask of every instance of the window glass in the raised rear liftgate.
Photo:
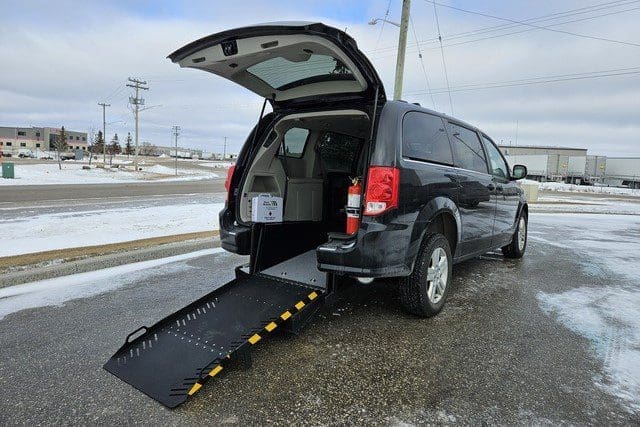
{"label": "window glass in the raised rear liftgate", "polygon": [[312,54],[301,61],[290,61],[279,56],[252,65],[247,72],[278,90],[317,82],[355,80],[351,70],[342,61],[328,55]]}

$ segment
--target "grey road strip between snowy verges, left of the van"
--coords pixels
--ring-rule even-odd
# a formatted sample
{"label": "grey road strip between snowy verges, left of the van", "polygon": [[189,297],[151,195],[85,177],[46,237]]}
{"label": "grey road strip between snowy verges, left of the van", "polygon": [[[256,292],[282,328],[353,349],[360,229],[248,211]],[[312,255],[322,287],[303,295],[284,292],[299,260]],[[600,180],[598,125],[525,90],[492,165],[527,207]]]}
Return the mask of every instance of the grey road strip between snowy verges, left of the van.
{"label": "grey road strip between snowy verges, left of the van", "polygon": [[224,192],[224,179],[114,184],[0,186],[0,207],[9,203],[52,200],[132,198]]}

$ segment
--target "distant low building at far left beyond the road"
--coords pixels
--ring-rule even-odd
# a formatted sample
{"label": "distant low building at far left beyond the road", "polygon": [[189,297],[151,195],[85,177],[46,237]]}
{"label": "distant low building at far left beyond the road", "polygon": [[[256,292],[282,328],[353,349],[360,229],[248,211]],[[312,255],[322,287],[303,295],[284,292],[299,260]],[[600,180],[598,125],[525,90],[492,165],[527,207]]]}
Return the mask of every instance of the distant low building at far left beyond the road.
{"label": "distant low building at far left beyond the road", "polygon": [[[64,130],[67,134],[69,150],[86,150],[87,133]],[[0,151],[9,154],[19,154],[30,151],[55,150],[55,141],[60,135],[59,128],[52,127],[6,127],[0,126]]]}

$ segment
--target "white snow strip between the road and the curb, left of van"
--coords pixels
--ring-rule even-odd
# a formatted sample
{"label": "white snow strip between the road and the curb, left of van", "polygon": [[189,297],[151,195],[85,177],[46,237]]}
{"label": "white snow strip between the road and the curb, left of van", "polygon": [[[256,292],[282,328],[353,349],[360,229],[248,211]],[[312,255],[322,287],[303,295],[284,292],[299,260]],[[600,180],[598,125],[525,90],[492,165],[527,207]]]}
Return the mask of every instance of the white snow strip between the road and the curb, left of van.
{"label": "white snow strip between the road and the curb, left of van", "polygon": [[223,203],[76,210],[0,219],[0,256],[218,229]]}

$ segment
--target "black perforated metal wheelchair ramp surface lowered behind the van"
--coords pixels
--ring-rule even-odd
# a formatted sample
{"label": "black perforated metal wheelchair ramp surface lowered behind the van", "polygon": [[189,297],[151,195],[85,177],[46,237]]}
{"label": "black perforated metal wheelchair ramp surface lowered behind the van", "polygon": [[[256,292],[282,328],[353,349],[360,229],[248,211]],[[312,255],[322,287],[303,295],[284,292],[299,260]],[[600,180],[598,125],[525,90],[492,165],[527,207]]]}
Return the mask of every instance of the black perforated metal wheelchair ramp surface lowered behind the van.
{"label": "black perforated metal wheelchair ramp surface lowered behind the van", "polygon": [[168,407],[311,290],[260,275],[235,279],[125,343],[104,368]]}

